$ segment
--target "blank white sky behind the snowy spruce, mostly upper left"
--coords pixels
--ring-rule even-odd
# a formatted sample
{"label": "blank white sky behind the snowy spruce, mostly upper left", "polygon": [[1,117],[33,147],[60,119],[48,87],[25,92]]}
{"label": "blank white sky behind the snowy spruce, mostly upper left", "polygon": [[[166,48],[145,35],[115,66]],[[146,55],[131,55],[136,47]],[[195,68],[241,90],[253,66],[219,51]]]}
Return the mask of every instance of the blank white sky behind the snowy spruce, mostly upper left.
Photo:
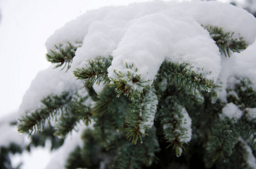
{"label": "blank white sky behind the snowy spruce, mostly upper left", "polygon": [[[145,1],[150,0],[0,0],[0,118],[18,110],[33,78],[50,65],[44,44],[54,30],[86,10]],[[38,161],[30,161],[38,168]],[[34,167],[25,163],[25,168]]]}

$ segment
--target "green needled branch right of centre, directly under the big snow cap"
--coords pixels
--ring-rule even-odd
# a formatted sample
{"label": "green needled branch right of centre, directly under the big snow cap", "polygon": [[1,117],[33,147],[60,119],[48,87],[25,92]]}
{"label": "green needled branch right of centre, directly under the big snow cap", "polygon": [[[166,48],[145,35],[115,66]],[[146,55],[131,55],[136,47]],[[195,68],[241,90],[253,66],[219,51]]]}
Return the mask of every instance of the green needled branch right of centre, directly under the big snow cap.
{"label": "green needled branch right of centre, directly under the big snow cap", "polygon": [[162,79],[167,79],[168,84],[176,84],[190,91],[193,90],[194,94],[197,89],[199,92],[210,91],[214,86],[214,82],[203,78],[202,73],[197,74],[192,71],[188,63],[171,63],[166,60],[160,66],[156,80],[162,81]]}

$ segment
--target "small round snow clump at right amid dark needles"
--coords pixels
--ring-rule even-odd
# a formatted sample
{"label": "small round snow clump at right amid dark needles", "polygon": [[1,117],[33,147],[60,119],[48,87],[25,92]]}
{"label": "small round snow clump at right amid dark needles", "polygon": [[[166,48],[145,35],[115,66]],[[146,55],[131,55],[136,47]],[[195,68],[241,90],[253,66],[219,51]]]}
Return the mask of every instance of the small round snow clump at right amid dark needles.
{"label": "small round snow clump at right amid dark needles", "polygon": [[235,104],[229,103],[225,105],[225,107],[222,109],[222,114],[220,114],[220,119],[224,119],[225,117],[228,117],[230,119],[240,119],[242,115],[242,110],[240,110]]}

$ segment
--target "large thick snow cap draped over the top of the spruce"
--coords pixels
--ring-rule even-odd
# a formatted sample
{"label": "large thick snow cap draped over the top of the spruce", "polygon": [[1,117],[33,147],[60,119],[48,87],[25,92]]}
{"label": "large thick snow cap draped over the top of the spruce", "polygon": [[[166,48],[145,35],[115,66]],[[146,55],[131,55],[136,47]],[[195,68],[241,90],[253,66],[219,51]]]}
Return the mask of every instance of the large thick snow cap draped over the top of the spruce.
{"label": "large thick snow cap draped over the top of the spruce", "polygon": [[[223,27],[249,44],[256,37],[254,17],[241,8],[221,2],[155,1],[87,12],[57,30],[46,47],[53,50],[54,44],[83,41],[73,59],[73,70],[86,68],[89,59],[112,55],[109,77],[123,80],[139,92],[143,87],[132,83],[127,71],[133,77],[140,75],[144,86],[151,85],[165,59],[189,63],[194,72],[216,82],[222,59],[201,24]],[[126,68],[126,64],[133,67]]]}

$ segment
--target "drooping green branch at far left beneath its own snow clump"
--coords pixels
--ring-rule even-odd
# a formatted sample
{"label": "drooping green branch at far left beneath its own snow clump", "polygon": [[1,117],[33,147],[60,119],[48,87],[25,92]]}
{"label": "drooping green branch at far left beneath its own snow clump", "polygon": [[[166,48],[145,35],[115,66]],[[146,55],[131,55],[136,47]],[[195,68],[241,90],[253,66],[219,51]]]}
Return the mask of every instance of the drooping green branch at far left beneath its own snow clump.
{"label": "drooping green branch at far left beneath its own snow clump", "polygon": [[19,119],[18,131],[20,133],[29,132],[29,135],[36,130],[43,130],[46,119],[50,123],[50,118],[57,118],[58,112],[63,113],[63,108],[70,104],[72,97],[68,92],[64,92],[60,96],[48,96],[42,100],[43,108],[36,109],[34,112],[26,112]]}

